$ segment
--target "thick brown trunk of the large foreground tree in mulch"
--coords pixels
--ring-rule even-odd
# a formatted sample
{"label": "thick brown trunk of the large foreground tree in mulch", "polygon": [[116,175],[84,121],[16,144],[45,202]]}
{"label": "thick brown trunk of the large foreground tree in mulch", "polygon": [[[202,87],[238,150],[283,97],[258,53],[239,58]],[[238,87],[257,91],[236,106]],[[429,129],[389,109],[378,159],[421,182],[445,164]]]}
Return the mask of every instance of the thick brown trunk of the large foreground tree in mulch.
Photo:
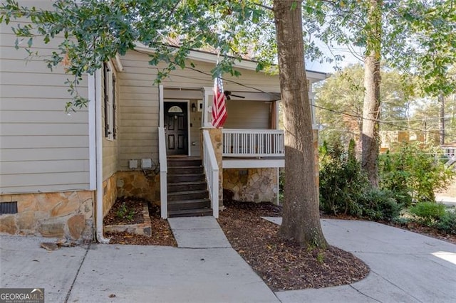
{"label": "thick brown trunk of the large foreground tree in mulch", "polygon": [[280,235],[300,245],[326,248],[320,225],[301,18],[301,1],[274,0],[285,128],[286,182]]}

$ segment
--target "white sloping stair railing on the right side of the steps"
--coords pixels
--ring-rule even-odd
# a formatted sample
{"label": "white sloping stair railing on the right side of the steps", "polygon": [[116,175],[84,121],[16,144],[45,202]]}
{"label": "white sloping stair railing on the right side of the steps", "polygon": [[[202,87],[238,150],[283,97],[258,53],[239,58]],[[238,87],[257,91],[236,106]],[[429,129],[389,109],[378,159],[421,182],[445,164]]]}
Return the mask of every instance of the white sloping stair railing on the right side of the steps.
{"label": "white sloping stair railing on the right side of the steps", "polygon": [[219,218],[219,166],[212,147],[211,137],[207,130],[202,132],[203,166],[206,174],[209,198],[211,199],[212,215]]}

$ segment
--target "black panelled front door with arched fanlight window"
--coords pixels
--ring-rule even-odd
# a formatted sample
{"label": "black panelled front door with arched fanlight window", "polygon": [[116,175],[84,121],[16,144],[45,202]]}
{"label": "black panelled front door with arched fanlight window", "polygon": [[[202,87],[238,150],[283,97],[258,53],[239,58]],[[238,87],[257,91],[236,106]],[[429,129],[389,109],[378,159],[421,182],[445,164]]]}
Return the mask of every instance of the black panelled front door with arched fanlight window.
{"label": "black panelled front door with arched fanlight window", "polygon": [[188,117],[186,102],[165,102],[167,154],[188,154]]}

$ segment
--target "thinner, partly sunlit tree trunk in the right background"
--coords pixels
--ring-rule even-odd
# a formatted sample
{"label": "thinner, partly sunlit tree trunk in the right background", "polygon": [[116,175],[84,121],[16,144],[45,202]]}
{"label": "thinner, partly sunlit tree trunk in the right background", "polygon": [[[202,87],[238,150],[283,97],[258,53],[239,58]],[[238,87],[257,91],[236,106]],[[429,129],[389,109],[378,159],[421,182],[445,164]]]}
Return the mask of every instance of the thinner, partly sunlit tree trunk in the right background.
{"label": "thinner, partly sunlit tree trunk in the right background", "polygon": [[378,119],[380,118],[380,46],[382,0],[370,0],[366,25],[364,58],[363,132],[361,134],[363,170],[372,186],[378,187]]}

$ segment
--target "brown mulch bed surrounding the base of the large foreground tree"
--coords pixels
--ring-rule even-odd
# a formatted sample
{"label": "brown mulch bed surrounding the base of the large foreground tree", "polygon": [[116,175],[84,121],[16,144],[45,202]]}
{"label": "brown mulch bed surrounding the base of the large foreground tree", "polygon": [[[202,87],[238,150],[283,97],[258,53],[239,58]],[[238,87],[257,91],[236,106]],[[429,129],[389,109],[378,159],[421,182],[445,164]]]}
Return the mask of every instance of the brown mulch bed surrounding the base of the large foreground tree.
{"label": "brown mulch bed surrounding the base of the large foreground tree", "polygon": [[279,226],[261,216],[281,216],[271,203],[224,202],[219,223],[232,247],[275,290],[346,285],[369,269],[350,252],[303,248],[279,237]]}

